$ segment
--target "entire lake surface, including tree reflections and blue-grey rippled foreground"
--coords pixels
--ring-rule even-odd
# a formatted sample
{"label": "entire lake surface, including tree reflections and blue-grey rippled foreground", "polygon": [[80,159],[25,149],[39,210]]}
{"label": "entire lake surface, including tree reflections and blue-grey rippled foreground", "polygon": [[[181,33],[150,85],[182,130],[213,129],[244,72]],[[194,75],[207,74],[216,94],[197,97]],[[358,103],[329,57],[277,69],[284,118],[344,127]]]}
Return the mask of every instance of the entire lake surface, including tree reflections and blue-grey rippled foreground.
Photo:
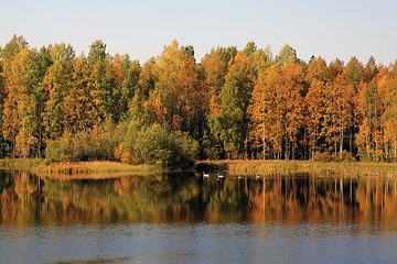
{"label": "entire lake surface, including tree reflections and blue-grey rippled foreground", "polygon": [[396,185],[0,172],[0,263],[396,263]]}

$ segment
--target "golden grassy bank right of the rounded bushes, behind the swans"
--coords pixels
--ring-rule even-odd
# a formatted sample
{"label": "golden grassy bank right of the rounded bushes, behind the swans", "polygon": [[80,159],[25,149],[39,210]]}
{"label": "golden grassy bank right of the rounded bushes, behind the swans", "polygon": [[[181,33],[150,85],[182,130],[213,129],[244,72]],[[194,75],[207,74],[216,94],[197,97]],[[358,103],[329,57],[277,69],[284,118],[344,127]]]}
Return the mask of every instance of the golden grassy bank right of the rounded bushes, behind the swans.
{"label": "golden grassy bank right of the rounded bushes, behind the swans", "polygon": [[310,161],[205,161],[196,164],[198,170],[227,170],[230,174],[314,173],[323,176],[387,176],[397,177],[394,163],[323,163]]}

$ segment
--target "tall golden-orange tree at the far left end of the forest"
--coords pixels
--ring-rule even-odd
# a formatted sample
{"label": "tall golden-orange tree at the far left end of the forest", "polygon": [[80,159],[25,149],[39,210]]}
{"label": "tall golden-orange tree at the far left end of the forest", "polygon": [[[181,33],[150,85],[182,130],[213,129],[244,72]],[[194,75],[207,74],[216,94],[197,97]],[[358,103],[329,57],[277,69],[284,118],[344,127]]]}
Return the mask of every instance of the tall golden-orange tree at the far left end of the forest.
{"label": "tall golden-orange tree at the far left end of the forest", "polygon": [[7,98],[3,110],[3,134],[12,143],[13,155],[28,157],[39,153],[40,117],[37,117],[37,52],[20,50],[8,65]]}

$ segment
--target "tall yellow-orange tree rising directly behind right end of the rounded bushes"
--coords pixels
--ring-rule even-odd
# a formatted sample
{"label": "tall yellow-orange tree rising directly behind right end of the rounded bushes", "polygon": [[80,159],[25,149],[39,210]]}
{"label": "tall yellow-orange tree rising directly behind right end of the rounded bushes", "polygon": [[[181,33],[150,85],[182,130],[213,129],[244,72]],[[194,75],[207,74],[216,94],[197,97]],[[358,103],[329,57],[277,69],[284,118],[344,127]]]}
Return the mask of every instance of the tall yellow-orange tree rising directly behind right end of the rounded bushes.
{"label": "tall yellow-orange tree rising directly behind right end of the rounded bushes", "polygon": [[193,109],[192,97],[195,96],[189,92],[194,91],[197,84],[192,51],[172,42],[158,57],[153,74],[157,81],[146,102],[151,120],[173,130],[186,130],[184,120]]}

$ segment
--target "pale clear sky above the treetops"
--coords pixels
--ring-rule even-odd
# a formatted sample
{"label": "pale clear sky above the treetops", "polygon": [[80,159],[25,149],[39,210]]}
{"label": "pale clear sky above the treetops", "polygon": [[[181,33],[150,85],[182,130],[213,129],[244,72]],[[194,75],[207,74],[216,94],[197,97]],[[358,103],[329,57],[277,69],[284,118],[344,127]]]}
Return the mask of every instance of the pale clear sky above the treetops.
{"label": "pale clear sky above the treetops", "polygon": [[176,40],[201,58],[212,47],[254,41],[277,55],[285,44],[308,62],[378,64],[397,59],[397,1],[374,0],[0,0],[0,46],[23,35],[31,47],[72,44],[76,54],[101,40],[110,54],[144,63]]}

